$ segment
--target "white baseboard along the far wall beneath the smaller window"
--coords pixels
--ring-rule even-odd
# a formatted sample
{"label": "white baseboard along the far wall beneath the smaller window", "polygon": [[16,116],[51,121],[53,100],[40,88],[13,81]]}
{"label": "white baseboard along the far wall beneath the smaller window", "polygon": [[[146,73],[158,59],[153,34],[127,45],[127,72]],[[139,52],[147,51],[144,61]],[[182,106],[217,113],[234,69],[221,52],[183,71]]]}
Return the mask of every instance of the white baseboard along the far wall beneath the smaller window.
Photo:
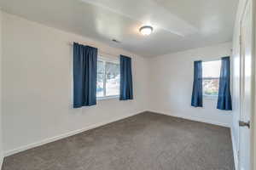
{"label": "white baseboard along the far wall beneath the smaller window", "polygon": [[207,119],[204,119],[204,118],[201,118],[201,117],[184,116],[184,115],[181,115],[181,114],[167,113],[167,112],[164,112],[164,111],[149,111],[149,112],[159,113],[159,114],[166,115],[166,116],[175,116],[175,117],[188,119],[188,120],[195,121],[195,122],[206,122],[206,123],[209,123],[209,124],[212,124],[212,125],[218,125],[218,126],[221,126],[221,127],[230,127],[229,123],[214,122],[214,121],[207,120]]}

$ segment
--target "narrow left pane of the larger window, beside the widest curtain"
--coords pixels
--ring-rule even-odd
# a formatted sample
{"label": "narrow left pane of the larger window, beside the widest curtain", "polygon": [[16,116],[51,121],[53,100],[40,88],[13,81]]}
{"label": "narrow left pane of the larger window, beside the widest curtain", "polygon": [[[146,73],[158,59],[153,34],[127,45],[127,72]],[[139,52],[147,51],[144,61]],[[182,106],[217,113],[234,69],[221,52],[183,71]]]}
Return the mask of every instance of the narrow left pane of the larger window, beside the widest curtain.
{"label": "narrow left pane of the larger window, beside the widest curtain", "polygon": [[104,96],[104,63],[100,60],[97,61],[97,88],[96,97]]}

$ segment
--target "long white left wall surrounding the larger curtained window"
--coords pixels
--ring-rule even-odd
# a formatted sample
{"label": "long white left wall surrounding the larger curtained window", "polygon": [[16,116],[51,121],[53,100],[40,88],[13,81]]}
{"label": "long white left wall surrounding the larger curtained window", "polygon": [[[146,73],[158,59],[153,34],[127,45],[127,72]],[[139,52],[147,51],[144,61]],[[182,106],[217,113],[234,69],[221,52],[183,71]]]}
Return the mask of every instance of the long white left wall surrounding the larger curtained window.
{"label": "long white left wall surrounding the larger curtained window", "polygon": [[[135,99],[72,108],[72,46],[132,56]],[[3,13],[3,145],[7,155],[147,108],[147,59],[86,37]],[[79,131],[78,131],[79,132]]]}

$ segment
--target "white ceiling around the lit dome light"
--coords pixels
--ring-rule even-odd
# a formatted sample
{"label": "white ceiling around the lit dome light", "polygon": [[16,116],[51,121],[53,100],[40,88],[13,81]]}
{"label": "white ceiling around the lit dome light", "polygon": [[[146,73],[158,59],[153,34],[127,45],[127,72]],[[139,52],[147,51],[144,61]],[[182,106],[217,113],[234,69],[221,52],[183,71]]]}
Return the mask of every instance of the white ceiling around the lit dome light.
{"label": "white ceiling around the lit dome light", "polygon": [[[7,13],[152,57],[231,41],[237,3],[238,0],[1,0],[0,6]],[[144,25],[154,27],[148,37],[138,31]]]}

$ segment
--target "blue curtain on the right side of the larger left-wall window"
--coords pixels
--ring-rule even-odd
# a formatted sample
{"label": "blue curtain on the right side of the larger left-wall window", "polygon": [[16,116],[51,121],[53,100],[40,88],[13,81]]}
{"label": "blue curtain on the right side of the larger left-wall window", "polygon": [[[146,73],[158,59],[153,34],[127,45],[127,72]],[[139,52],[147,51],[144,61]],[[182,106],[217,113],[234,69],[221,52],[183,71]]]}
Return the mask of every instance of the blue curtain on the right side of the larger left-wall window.
{"label": "blue curtain on the right side of the larger left-wall window", "polygon": [[131,58],[120,55],[120,100],[133,99]]}

